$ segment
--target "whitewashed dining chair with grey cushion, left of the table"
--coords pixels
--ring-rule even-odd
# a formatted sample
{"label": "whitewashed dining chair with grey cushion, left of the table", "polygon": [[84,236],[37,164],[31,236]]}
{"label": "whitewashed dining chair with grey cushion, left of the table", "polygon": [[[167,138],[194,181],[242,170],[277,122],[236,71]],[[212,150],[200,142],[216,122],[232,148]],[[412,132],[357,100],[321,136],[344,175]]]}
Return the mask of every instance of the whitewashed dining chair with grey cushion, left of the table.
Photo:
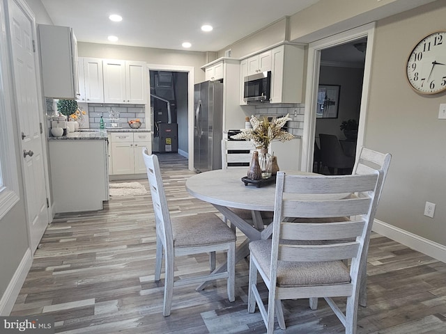
{"label": "whitewashed dining chair with grey cushion, left of the table", "polygon": [[[229,301],[234,301],[236,234],[215,214],[171,217],[167,205],[160,164],[156,155],[143,149],[151,189],[156,228],[155,281],[161,277],[164,257],[164,303],[162,314],[170,315],[174,286],[227,279]],[[226,271],[174,280],[174,258],[183,255],[227,251]],[[164,256],[163,256],[164,255]],[[211,267],[211,270],[214,268]]]}

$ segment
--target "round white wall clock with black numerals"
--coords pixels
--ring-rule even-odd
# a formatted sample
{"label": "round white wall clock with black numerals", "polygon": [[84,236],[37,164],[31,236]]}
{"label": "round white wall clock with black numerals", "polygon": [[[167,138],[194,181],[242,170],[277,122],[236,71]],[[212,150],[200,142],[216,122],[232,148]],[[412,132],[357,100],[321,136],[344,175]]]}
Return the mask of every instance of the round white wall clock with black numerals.
{"label": "round white wall clock with black numerals", "polygon": [[415,45],[407,60],[406,74],[418,93],[446,90],[446,31],[431,33]]}

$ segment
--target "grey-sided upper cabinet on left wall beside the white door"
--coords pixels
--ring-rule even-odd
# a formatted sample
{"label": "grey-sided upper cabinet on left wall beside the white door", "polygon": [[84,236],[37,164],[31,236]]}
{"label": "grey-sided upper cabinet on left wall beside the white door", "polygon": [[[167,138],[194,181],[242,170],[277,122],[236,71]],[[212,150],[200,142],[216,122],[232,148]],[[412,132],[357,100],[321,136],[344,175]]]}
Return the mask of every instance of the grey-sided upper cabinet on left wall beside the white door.
{"label": "grey-sided upper cabinet on left wall beside the white door", "polygon": [[46,97],[75,100],[77,82],[77,41],[68,26],[38,25],[43,93]]}

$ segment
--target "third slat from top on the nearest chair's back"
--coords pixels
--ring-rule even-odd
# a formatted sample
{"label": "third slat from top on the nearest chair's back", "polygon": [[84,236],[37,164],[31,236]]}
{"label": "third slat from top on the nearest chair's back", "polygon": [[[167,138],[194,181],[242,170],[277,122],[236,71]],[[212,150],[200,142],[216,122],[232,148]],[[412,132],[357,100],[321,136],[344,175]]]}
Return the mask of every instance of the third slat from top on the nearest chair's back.
{"label": "third slat from top on the nearest chair's back", "polygon": [[337,240],[361,235],[364,221],[336,223],[282,223],[281,240]]}

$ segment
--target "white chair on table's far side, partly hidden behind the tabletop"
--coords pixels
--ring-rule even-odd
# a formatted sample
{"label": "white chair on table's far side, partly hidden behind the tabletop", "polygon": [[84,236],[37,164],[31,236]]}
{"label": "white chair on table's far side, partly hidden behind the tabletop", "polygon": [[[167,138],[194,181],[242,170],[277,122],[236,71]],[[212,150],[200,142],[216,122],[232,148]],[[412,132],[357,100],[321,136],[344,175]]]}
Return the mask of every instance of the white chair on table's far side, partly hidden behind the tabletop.
{"label": "white chair on table's far side, partly hidden behind the tabletop", "polygon": [[[252,152],[256,150],[253,141],[228,141],[222,140],[222,169],[227,168],[243,168],[248,169],[252,159]],[[260,217],[254,217],[253,212],[245,209],[231,208],[237,216],[242,219],[253,221],[256,228],[263,230],[263,225],[268,225],[272,221],[272,212],[261,212]],[[224,217],[225,223],[228,219]],[[231,228],[235,230],[235,226],[231,224]]]}

